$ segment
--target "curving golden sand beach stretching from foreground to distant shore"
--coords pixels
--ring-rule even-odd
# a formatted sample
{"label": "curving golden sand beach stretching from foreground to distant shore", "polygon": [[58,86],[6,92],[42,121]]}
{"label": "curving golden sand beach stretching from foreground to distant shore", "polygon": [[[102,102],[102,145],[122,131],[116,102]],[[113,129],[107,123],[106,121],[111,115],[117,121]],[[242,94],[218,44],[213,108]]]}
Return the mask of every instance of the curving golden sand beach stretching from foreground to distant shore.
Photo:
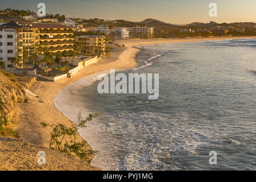
{"label": "curving golden sand beach stretching from foreground to distant shore", "polygon": [[[89,65],[88,67],[79,71],[73,78],[63,78],[57,82],[49,82],[38,80],[38,82],[31,88],[31,92],[37,94],[42,102],[32,100],[29,104],[19,104],[23,111],[21,115],[21,122],[17,128],[18,133],[26,142],[38,144],[43,147],[48,147],[50,135],[43,129],[40,122],[55,123],[59,122],[67,126],[74,126],[74,123],[65,117],[56,107],[54,103],[54,96],[59,93],[59,90],[64,89],[67,85],[80,80],[85,76],[92,75],[97,72],[106,71],[110,69],[128,69],[137,66],[135,55],[139,49],[135,46],[145,46],[151,44],[163,43],[182,43],[182,42],[198,42],[209,40],[229,40],[229,39],[248,39],[256,38],[256,36],[245,37],[218,37],[218,38],[185,38],[185,39],[150,39],[150,40],[120,40],[115,42],[118,46],[112,46],[110,49],[110,56],[100,59],[98,63]],[[122,44],[125,47],[122,47]],[[83,140],[78,135],[78,140]]]}

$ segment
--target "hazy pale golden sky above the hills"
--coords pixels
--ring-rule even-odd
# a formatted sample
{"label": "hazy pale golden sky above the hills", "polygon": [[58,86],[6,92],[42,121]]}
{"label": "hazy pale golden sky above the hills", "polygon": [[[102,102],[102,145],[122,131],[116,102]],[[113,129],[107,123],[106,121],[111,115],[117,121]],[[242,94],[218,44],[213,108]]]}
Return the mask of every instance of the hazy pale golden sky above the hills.
{"label": "hazy pale golden sky above the hills", "polygon": [[[46,4],[47,14],[65,14],[77,18],[125,19],[146,18],[166,23],[192,22],[256,22],[256,0],[0,0],[0,9],[38,11],[38,3]],[[209,16],[209,4],[217,3],[218,16]]]}

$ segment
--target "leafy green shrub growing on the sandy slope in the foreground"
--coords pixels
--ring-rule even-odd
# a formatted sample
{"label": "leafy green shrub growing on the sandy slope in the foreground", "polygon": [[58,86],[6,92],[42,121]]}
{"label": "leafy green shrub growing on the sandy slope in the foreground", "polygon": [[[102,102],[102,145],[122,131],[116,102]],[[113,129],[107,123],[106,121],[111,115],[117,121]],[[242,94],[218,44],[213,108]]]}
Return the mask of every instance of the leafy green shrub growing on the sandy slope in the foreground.
{"label": "leafy green shrub growing on the sandy slope in the foreground", "polygon": [[52,150],[67,154],[76,155],[82,160],[90,163],[89,157],[98,154],[99,151],[86,150],[86,142],[76,142],[78,129],[86,127],[86,123],[98,117],[99,113],[89,114],[86,118],[82,117],[81,111],[78,113],[78,123],[74,127],[67,127],[61,123],[47,124],[41,122],[41,125],[50,132],[51,140],[49,147]]}

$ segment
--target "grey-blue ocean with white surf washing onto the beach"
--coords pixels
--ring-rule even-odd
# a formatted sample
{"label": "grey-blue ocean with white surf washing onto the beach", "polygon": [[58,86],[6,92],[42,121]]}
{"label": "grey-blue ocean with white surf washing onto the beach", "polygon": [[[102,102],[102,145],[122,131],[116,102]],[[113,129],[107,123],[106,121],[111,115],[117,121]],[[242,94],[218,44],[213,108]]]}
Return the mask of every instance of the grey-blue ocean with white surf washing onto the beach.
{"label": "grey-blue ocean with white surf washing onto the beach", "polygon": [[[255,170],[256,39],[139,46],[138,67],[159,73],[159,98],[99,94],[97,74],[61,90],[55,106],[77,122],[103,112],[79,134],[105,170]],[[104,73],[109,73],[106,71]],[[210,165],[210,151],[217,164]]]}

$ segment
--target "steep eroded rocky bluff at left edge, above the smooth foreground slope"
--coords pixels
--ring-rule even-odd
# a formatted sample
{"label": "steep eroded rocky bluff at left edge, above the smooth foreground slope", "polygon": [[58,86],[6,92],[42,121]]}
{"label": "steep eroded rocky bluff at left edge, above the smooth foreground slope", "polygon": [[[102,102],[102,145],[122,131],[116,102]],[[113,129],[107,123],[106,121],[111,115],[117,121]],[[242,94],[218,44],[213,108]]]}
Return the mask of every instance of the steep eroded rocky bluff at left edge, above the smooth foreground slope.
{"label": "steep eroded rocky bluff at left edge, above the smooth foreground slope", "polygon": [[17,103],[28,102],[25,89],[30,88],[36,81],[35,77],[15,76],[0,70],[0,135],[17,138],[13,129],[19,122],[19,109]]}

